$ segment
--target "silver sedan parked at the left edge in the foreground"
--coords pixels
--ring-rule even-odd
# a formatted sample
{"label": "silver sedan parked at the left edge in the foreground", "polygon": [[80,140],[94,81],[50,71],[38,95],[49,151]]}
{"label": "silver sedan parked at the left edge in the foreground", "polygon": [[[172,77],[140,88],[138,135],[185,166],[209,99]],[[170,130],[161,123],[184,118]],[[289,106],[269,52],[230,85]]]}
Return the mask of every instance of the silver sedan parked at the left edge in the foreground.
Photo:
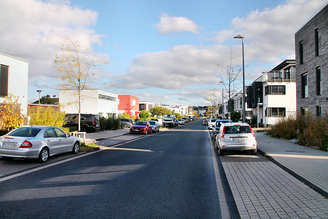
{"label": "silver sedan parked at the left edge in the foreground", "polygon": [[22,126],[0,137],[0,156],[48,161],[49,156],[77,154],[80,140],[54,126]]}

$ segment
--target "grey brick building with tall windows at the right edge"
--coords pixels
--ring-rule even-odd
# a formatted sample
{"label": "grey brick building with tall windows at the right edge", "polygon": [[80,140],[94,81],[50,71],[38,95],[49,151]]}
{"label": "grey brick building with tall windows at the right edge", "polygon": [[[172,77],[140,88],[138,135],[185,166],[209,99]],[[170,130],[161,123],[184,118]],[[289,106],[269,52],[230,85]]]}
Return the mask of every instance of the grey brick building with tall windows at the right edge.
{"label": "grey brick building with tall windows at the right edge", "polygon": [[328,113],[328,2],[295,33],[298,112]]}

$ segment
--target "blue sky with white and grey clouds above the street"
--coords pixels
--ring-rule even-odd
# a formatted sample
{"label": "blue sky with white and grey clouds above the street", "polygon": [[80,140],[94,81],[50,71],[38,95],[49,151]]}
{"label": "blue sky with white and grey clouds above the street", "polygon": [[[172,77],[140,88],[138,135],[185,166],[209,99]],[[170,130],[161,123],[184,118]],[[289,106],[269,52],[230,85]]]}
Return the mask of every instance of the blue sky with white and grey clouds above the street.
{"label": "blue sky with white and grey clouds above the street", "polygon": [[[295,32],[326,0],[0,0],[0,53],[29,62],[28,103],[59,96],[54,68],[68,37],[96,58],[97,88],[140,101],[206,106],[220,75],[242,67],[245,85],[295,59]],[[114,86],[110,86],[114,85]],[[242,88],[242,74],[236,88]],[[226,92],[223,91],[226,97]],[[220,101],[220,98],[219,98]]]}

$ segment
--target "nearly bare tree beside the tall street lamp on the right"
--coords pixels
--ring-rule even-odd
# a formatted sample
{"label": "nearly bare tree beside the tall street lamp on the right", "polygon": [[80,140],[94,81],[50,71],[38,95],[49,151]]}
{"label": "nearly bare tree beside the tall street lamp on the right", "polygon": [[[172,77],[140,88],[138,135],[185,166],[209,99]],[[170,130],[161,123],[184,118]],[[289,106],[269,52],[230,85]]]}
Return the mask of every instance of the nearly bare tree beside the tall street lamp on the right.
{"label": "nearly bare tree beside the tall street lamp on the right", "polygon": [[[238,76],[242,72],[240,65],[233,64],[235,58],[236,57],[233,56],[231,47],[230,63],[217,65],[220,68],[220,74],[216,76],[221,79],[221,82],[219,83],[223,84],[223,90],[221,92],[225,93],[225,96],[229,101],[229,110],[231,109],[231,98],[234,96],[235,92],[240,89],[237,86],[239,83]],[[215,90],[219,91],[218,89]]]}

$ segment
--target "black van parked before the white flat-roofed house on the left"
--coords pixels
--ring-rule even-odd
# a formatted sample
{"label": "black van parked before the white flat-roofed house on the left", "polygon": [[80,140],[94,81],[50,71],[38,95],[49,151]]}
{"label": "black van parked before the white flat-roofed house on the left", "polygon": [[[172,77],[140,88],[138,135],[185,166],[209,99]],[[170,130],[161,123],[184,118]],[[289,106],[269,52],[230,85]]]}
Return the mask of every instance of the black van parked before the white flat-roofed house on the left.
{"label": "black van parked before the white flat-roofed house on the left", "polygon": [[[96,114],[80,114],[80,131],[100,131],[99,115]],[[66,124],[64,127],[76,127],[78,130],[78,114],[67,114]]]}

